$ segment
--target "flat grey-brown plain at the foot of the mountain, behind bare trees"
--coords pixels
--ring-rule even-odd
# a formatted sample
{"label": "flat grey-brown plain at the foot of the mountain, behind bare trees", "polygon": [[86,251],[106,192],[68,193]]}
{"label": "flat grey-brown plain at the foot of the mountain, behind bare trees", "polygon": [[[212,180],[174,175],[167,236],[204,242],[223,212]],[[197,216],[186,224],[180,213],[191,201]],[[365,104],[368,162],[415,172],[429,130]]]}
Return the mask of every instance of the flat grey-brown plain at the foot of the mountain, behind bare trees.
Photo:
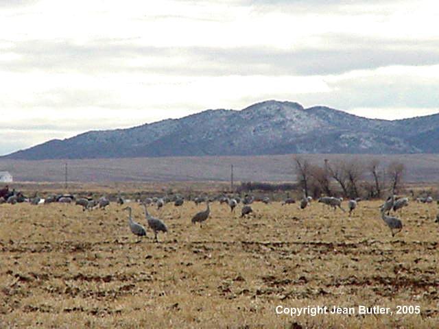
{"label": "flat grey-brown plain at the foot of the mountain, behind bare trees", "polygon": [[[438,154],[302,154],[312,164],[337,160],[359,160],[366,164],[379,160],[384,167],[403,162],[405,182],[437,182]],[[235,180],[257,182],[295,181],[294,154],[270,156],[198,156],[162,158],[115,158],[82,160],[3,160],[0,171],[9,171],[19,182],[62,182],[65,164],[71,182],[170,182],[230,180],[230,164]]]}

